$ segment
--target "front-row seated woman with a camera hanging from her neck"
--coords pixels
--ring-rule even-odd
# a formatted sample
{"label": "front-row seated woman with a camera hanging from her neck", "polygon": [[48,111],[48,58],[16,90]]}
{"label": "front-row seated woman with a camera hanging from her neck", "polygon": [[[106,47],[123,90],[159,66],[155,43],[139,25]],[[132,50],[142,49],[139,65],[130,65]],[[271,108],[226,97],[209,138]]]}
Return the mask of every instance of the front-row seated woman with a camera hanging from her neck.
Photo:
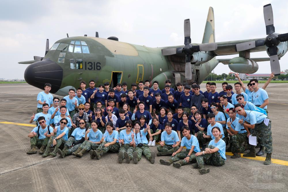
{"label": "front-row seated woman with a camera hanging from her neck", "polygon": [[133,147],[135,147],[135,151],[133,153],[133,161],[134,164],[137,164],[140,161],[142,153],[145,155],[146,159],[154,164],[155,162],[155,153],[154,151],[150,151],[148,147],[148,140],[146,138],[147,130],[150,129],[150,126],[146,124],[146,128],[140,130],[140,122],[135,121],[134,123],[134,134],[136,137],[135,142],[133,143]]}

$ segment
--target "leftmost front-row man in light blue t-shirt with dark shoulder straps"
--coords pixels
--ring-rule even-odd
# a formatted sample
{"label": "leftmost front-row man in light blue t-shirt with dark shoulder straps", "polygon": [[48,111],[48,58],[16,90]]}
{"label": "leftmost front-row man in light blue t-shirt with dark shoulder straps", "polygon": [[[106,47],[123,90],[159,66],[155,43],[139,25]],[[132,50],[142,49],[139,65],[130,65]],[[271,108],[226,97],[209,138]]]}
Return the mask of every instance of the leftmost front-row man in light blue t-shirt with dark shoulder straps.
{"label": "leftmost front-row man in light blue t-shirt with dark shoulder straps", "polygon": [[39,122],[39,126],[35,127],[28,134],[31,143],[31,149],[27,152],[29,155],[37,153],[36,147],[40,148],[39,153],[42,154],[49,138],[54,135],[53,128],[49,125],[46,125],[45,117],[38,117],[37,121]]}

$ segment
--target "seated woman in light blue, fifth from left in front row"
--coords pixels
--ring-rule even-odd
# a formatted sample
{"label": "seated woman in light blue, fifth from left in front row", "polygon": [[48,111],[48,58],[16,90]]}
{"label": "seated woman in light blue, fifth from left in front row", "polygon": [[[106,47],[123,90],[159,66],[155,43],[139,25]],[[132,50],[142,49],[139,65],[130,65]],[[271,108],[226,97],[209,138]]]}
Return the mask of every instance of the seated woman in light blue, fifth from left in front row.
{"label": "seated woman in light blue, fifth from left in front row", "polygon": [[101,144],[99,147],[93,151],[93,155],[96,159],[100,159],[108,151],[116,153],[119,151],[120,144],[119,144],[119,134],[118,131],[113,130],[113,123],[109,121],[106,124],[106,130],[103,134],[102,139],[100,140]]}

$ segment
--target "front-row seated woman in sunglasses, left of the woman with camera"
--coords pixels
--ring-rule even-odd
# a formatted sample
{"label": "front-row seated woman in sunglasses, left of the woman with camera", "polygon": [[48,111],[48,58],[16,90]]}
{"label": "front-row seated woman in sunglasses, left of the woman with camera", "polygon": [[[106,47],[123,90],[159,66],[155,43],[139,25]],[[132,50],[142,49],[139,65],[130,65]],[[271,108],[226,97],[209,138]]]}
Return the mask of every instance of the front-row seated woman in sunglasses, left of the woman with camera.
{"label": "front-row seated woman in sunglasses, left of the woman with camera", "polygon": [[131,120],[125,122],[126,130],[120,131],[119,143],[122,143],[118,153],[118,163],[122,163],[125,158],[126,163],[130,163],[133,158],[134,132],[131,131],[133,123]]}

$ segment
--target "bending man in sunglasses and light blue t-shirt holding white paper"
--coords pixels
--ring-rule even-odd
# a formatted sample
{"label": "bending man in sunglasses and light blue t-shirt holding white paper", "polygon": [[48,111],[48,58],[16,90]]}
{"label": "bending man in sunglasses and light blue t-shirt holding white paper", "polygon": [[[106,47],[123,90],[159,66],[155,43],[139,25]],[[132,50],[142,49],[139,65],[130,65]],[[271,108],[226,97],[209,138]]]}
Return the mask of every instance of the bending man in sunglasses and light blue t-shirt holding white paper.
{"label": "bending man in sunglasses and light blue t-shirt holding white paper", "polygon": [[[272,132],[271,132],[271,121],[269,120],[268,126],[265,125],[264,120],[269,119],[267,115],[260,113],[258,111],[249,111],[244,109],[243,104],[236,104],[235,111],[239,115],[239,123],[244,126],[245,130],[249,135],[257,136],[262,139],[262,144],[265,146],[266,159],[264,165],[271,164],[271,154],[272,154]],[[244,121],[250,123],[245,123]],[[266,120],[267,121],[267,120]],[[251,129],[251,133],[248,128]],[[244,157],[256,157],[255,146],[249,145],[250,152],[244,154]]]}

